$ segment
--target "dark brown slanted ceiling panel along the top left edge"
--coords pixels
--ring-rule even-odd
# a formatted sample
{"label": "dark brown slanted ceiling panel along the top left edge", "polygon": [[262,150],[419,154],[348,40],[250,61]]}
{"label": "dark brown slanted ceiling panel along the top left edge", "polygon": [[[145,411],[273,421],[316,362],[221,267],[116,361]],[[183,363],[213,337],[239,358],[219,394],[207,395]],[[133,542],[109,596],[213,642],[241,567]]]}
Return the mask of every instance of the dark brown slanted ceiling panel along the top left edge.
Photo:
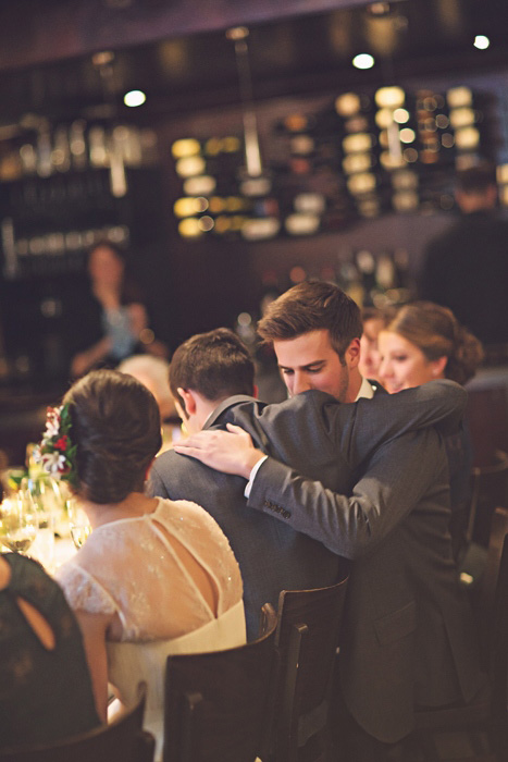
{"label": "dark brown slanted ceiling panel along the top left edge", "polygon": [[16,0],[0,8],[0,70],[364,0]]}

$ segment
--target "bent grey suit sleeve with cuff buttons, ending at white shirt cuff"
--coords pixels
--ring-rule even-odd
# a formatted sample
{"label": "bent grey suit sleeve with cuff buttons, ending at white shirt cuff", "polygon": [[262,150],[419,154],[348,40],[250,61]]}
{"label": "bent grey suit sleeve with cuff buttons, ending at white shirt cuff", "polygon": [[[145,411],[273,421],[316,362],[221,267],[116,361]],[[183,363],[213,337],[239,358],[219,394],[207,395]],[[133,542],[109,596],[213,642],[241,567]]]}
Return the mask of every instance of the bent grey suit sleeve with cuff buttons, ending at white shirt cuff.
{"label": "bent grey suit sleeve with cuff buttons, ending at white shirt cuff", "polygon": [[446,487],[443,445],[432,429],[382,445],[350,496],[273,458],[259,469],[248,506],[285,521],[334,553],[356,558],[380,543],[433,489]]}

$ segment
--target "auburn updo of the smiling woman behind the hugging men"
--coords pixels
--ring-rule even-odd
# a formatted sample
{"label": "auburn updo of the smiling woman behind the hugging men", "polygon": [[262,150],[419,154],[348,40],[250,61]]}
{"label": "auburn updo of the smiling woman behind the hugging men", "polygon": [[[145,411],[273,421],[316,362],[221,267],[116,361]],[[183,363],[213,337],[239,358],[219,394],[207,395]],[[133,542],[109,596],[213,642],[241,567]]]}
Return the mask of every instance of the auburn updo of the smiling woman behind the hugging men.
{"label": "auburn updo of the smiling woman behind the hugging men", "polygon": [[450,309],[432,302],[400,307],[386,330],[418,346],[428,360],[447,357],[445,377],[460,384],[472,379],[483,360],[476,336],[458,322]]}

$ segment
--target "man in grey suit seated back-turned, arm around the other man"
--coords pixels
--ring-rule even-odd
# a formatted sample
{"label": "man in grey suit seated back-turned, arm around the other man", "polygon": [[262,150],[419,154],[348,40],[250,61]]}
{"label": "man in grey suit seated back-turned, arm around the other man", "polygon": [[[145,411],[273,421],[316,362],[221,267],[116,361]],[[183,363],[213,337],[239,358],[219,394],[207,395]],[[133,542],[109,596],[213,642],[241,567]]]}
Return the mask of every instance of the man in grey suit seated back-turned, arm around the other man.
{"label": "man in grey suit seated back-turned, arm around the other man", "polygon": [[[267,453],[296,468],[306,467],[314,429],[332,429],[332,462],[327,463],[330,451],[318,450],[312,459],[326,464],[323,467],[333,471],[334,484],[344,491],[354,484],[356,465],[380,442],[413,426],[441,419],[448,425],[459,417],[464,397],[454,384],[442,384],[402,395],[397,404],[385,394],[372,409],[339,405],[318,392],[264,405],[252,397],[249,353],[227,329],[198,334],[182,344],[171,361],[170,383],[190,433],[239,422]],[[149,490],[172,500],[193,500],[219,523],[240,566],[249,639],[258,635],[262,604],[270,602],[276,607],[281,590],[333,585],[347,566],[344,558],[308,534],[280,524],[273,515],[249,511],[243,479],[213,471],[174,451],[157,458]]]}

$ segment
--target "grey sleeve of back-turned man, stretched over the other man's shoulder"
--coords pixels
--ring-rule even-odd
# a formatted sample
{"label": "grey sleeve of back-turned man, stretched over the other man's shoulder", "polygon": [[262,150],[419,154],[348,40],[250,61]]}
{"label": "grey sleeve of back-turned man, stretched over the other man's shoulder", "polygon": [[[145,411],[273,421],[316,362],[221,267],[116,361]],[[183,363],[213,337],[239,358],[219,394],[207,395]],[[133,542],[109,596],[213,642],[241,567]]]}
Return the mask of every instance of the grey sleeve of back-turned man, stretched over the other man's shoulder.
{"label": "grey sleeve of back-turned man, stretched over the other man's shoulder", "polygon": [[330,440],[358,468],[383,442],[409,431],[435,426],[444,437],[457,432],[467,400],[462,386],[443,379],[354,405],[324,406],[323,416]]}

